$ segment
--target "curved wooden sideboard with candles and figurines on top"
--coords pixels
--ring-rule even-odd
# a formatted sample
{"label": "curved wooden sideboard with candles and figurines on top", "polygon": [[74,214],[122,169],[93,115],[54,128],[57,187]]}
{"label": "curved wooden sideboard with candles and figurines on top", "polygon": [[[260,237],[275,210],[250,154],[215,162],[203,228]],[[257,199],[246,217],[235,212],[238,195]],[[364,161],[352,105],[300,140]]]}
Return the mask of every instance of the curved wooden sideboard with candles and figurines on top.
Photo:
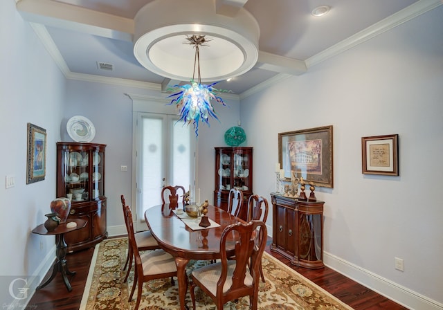
{"label": "curved wooden sideboard with candles and figurines on top", "polygon": [[322,268],[324,202],[300,201],[277,193],[271,193],[271,201],[271,250],[296,266]]}

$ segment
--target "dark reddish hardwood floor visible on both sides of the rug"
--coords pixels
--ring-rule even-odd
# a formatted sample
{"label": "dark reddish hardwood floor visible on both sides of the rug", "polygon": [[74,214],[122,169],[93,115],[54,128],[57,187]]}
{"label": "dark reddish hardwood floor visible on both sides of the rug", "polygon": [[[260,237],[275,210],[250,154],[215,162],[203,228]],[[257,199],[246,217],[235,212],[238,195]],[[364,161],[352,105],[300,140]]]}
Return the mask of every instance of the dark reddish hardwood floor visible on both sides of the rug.
{"label": "dark reddish hardwood floor visible on both sides of the rug", "polygon": [[[365,286],[348,279],[340,273],[333,271],[331,268],[325,267],[316,270],[301,268],[291,265],[288,259],[271,252],[269,246],[266,246],[266,252],[277,257],[284,264],[291,266],[295,271],[323,287],[323,289],[329,291],[329,293],[332,293],[332,295],[335,295],[346,304],[349,304],[350,307],[355,310],[407,310],[407,308],[367,289]],[[31,298],[28,303],[27,309],[78,310],[82,300],[92,255],[93,248],[66,255],[69,270],[77,272],[76,275],[70,277],[73,290],[71,292],[66,290],[62,277],[58,274],[51,283],[35,292],[33,298]],[[48,277],[48,275],[46,275],[46,277]]]}

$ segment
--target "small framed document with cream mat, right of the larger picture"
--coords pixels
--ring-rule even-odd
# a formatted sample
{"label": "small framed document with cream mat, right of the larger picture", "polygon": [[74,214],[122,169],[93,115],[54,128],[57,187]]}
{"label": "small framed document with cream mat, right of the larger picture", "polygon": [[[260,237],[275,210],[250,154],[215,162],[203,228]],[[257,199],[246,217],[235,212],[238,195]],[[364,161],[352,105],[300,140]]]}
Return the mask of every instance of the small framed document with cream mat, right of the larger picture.
{"label": "small framed document with cream mat, right of the larger picture", "polygon": [[363,174],[399,175],[398,134],[361,138]]}

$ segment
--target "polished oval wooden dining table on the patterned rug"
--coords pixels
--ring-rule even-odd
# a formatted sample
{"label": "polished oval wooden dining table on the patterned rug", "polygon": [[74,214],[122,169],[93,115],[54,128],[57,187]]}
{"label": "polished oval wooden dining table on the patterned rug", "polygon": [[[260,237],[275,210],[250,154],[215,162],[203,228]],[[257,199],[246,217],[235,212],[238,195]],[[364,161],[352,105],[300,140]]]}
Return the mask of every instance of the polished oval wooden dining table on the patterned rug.
{"label": "polished oval wooden dining table on the patterned rug", "polygon": [[[188,289],[186,265],[190,259],[211,260],[220,258],[220,237],[224,228],[230,224],[244,223],[244,221],[230,215],[221,208],[208,206],[206,216],[219,226],[192,230],[174,212],[177,208],[183,208],[183,205],[179,204],[177,208],[174,207],[165,203],[149,208],[145,211],[145,220],[161,248],[170,253],[175,259],[177,282],[179,282],[180,309],[184,310],[188,309],[185,303]],[[234,248],[235,239],[237,239],[235,235],[230,236],[232,249]],[[230,247],[228,246],[228,248]]]}

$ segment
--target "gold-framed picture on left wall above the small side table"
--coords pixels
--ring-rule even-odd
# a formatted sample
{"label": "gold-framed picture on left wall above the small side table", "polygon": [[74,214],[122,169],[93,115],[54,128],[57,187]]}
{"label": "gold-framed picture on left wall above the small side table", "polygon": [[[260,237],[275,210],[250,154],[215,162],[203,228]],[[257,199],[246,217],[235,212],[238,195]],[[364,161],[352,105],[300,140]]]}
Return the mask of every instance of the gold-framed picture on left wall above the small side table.
{"label": "gold-framed picture on left wall above the small side table", "polygon": [[46,129],[28,122],[28,166],[26,184],[44,180],[46,176]]}

